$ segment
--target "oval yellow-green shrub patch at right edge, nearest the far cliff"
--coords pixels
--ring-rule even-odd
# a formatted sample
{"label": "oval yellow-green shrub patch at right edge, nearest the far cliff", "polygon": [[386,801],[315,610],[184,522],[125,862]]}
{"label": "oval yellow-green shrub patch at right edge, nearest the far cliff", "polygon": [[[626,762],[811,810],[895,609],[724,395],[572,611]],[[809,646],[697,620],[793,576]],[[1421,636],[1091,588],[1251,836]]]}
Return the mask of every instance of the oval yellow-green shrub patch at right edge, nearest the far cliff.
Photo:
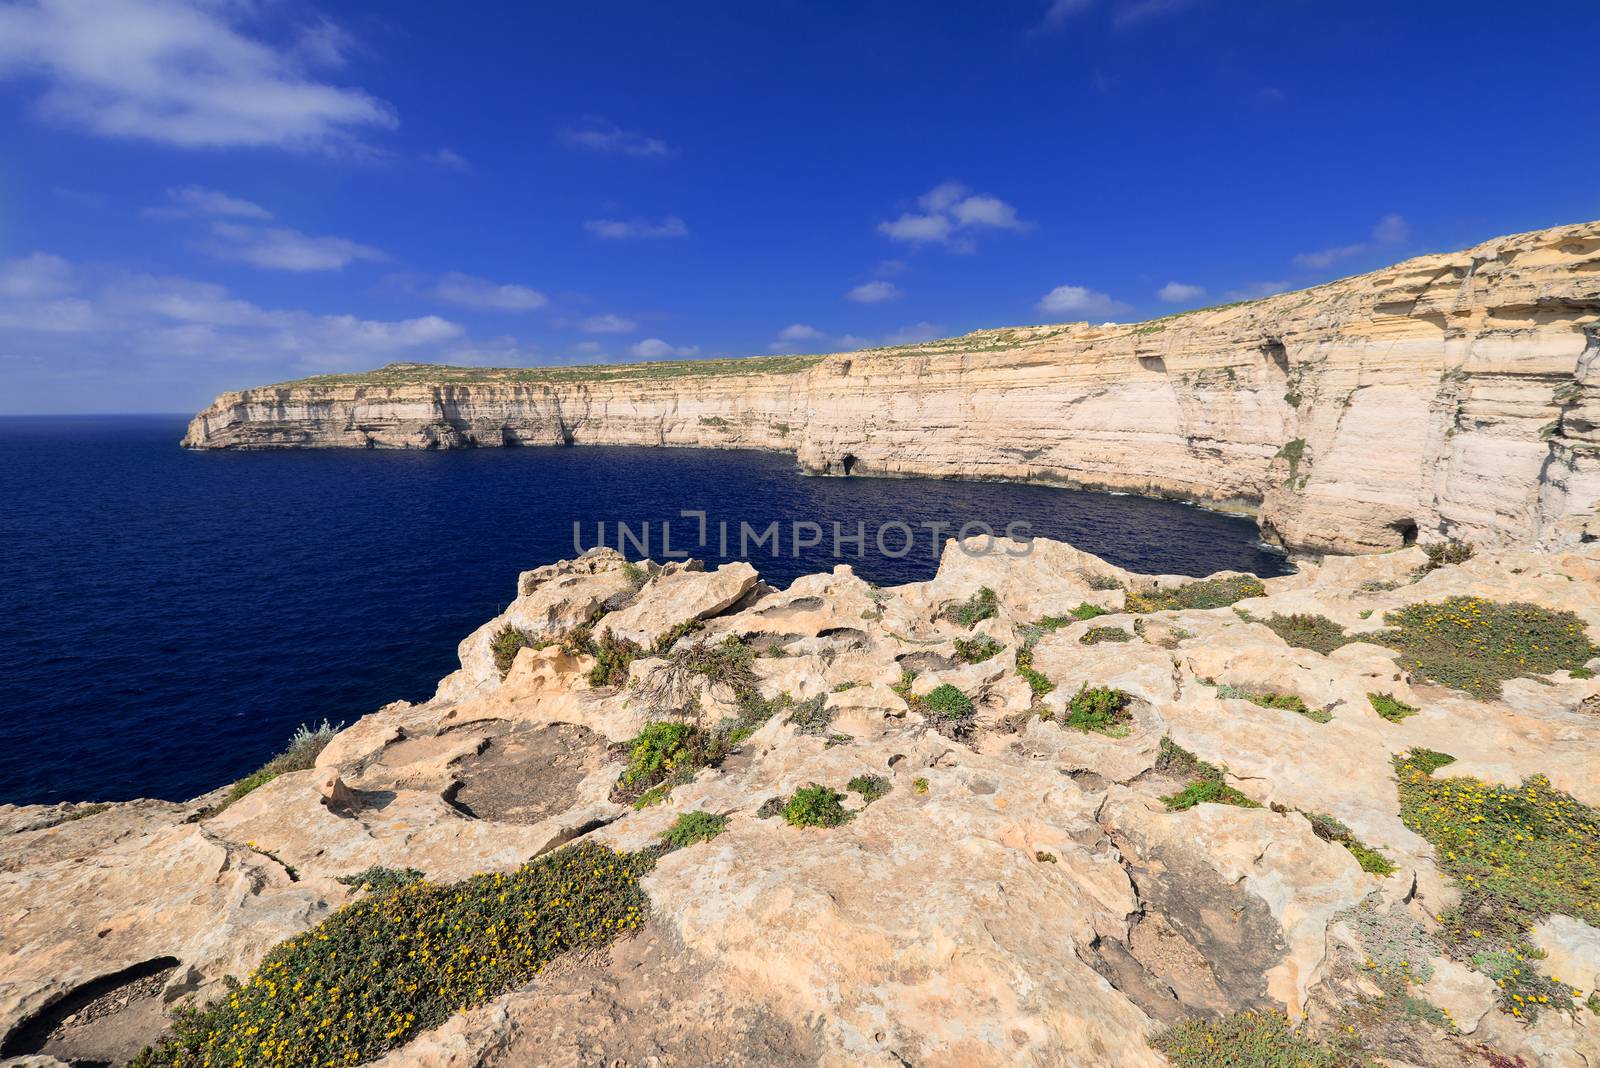
{"label": "oval yellow-green shrub patch at right edge, nearest the far cliff", "polygon": [[1504,679],[1571,670],[1600,652],[1578,616],[1538,604],[1453,596],[1410,604],[1384,622],[1394,630],[1370,640],[1397,649],[1406,670],[1478,699],[1498,697]]}

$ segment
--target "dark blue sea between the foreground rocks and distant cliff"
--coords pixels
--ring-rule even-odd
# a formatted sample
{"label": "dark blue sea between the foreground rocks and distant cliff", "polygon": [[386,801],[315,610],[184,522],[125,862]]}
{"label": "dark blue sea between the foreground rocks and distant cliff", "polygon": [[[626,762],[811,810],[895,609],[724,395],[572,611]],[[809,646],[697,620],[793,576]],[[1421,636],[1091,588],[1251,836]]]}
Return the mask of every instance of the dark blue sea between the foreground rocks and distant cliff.
{"label": "dark blue sea between the foreground rocks and distant cliff", "polygon": [[[456,644],[515,595],[517,574],[573,556],[605,523],[706,510],[784,524],[784,585],[838,563],[832,523],[866,523],[890,585],[931,577],[920,523],[1027,521],[1144,572],[1283,574],[1248,520],[1043,486],[808,478],[781,454],[528,448],[459,452],[189,452],[176,416],[0,419],[0,803],[182,799],[243,775],[301,723],[352,723],[427,697]],[[789,524],[822,544],[787,555]],[[914,528],[891,560],[872,532]],[[808,540],[802,536],[802,540]],[[896,552],[902,534],[886,534]]]}

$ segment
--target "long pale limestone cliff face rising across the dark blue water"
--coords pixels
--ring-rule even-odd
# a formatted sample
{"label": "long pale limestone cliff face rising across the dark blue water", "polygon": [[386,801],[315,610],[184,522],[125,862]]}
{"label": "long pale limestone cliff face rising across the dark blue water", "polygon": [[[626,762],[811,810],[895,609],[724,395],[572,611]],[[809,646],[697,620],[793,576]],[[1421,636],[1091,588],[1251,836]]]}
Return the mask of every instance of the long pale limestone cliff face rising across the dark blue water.
{"label": "long pale limestone cliff face rising across the dark blue water", "polygon": [[224,393],[190,448],[736,446],[818,473],[1259,507],[1298,548],[1600,537],[1600,222],[1142,325],[704,365],[397,365]]}

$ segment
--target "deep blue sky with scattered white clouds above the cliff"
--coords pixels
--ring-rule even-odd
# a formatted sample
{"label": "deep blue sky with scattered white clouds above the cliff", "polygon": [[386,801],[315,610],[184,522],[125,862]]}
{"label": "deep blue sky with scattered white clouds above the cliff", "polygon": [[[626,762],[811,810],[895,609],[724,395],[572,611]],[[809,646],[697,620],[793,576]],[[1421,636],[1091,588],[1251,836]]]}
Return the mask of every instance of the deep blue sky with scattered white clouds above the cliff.
{"label": "deep blue sky with scattered white clouds above the cliff", "polygon": [[1136,320],[1600,217],[1600,6],[0,0],[0,412]]}

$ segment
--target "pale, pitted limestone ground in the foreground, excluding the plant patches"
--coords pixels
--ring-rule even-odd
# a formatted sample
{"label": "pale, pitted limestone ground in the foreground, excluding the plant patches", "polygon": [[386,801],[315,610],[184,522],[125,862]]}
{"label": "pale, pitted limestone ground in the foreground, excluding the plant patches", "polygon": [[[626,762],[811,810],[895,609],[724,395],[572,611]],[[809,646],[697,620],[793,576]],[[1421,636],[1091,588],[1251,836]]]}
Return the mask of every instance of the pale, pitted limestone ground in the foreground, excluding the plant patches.
{"label": "pale, pitted limestone ground in the foreground, excluding the plant patches", "polygon": [[[34,1065],[136,1049],[160,1028],[152,1006],[226,991],[357,899],[339,878],[371,865],[448,883],[579,839],[642,849],[694,811],[726,830],[661,857],[635,937],[378,1063],[1155,1068],[1163,1026],[1250,1009],[1338,1038],[1339,1014],[1384,998],[1368,970],[1382,950],[1363,931],[1437,932],[1458,900],[1402,819],[1397,753],[1448,751],[1451,774],[1490,783],[1547,775],[1600,804],[1589,668],[1474,699],[1376,644],[1384,614],[1475,596],[1574,612],[1600,636],[1600,548],[1437,569],[1418,548],[1333,558],[1234,606],[1130,614],[1130,595],[1182,582],[1045,540],[1026,556],[952,542],[933,580],[886,590],[845,566],[774,590],[746,566],[624,566],[611,550],[525,572],[435,697],[365,716],[317,767],[226,809],[222,791],[0,807],[0,1049]],[[992,611],[952,622],[984,588]],[[1290,646],[1261,622],[1280,614],[1323,616],[1354,641]],[[509,664],[506,627],[525,640]],[[1085,641],[1091,628],[1123,640]],[[600,679],[594,656],[558,644],[584,633],[650,641],[626,679]],[[616,747],[648,723],[742,715],[750,692],[685,670],[730,640],[757,654],[747,691],[787,695],[778,715],[659,803],[618,799]],[[1066,726],[1083,686],[1128,694],[1128,721]],[[971,713],[941,715],[947,687]],[[1238,692],[1296,694],[1320,715]],[[1414,713],[1379,716],[1374,692]],[[1170,811],[1162,798],[1186,782],[1171,743],[1259,807]],[[862,775],[888,791],[845,790]],[[771,815],[773,798],[808,783],[845,793],[851,819]],[[1302,812],[1333,817],[1394,871],[1365,871]],[[1600,982],[1592,926],[1557,915],[1530,937],[1563,978]],[[1413,956],[1427,967],[1414,996],[1453,1023],[1379,1015],[1362,1041],[1387,1063],[1600,1063],[1600,1015],[1550,1007],[1528,1023],[1467,962]],[[69,1014],[91,993],[106,1015]]]}

